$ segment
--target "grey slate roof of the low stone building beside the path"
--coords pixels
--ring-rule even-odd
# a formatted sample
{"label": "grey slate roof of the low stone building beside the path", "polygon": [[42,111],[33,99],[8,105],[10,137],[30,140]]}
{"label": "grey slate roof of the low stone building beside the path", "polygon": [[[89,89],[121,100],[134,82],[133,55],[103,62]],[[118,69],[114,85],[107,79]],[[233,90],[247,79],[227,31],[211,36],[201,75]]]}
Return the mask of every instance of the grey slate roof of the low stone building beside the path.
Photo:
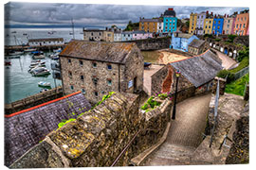
{"label": "grey slate roof of the low stone building beside the path", "polygon": [[209,49],[199,56],[170,64],[197,88],[209,82],[222,70],[221,63],[222,61]]}

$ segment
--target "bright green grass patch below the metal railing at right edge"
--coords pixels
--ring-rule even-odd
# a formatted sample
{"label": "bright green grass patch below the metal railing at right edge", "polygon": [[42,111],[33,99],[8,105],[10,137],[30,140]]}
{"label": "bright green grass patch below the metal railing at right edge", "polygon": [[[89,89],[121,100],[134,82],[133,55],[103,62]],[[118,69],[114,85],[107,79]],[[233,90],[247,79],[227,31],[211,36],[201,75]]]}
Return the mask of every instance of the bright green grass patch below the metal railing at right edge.
{"label": "bright green grass patch below the metal railing at right edge", "polygon": [[241,78],[226,85],[226,93],[234,93],[237,95],[244,95],[246,83],[249,81],[249,75],[242,76]]}

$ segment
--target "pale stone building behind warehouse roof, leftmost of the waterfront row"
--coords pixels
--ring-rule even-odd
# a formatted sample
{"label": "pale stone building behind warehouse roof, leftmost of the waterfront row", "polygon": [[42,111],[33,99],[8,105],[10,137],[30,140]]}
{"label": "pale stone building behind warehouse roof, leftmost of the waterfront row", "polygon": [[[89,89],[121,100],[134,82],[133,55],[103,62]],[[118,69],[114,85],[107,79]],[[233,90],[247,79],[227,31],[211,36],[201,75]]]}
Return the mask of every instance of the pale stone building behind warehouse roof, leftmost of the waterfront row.
{"label": "pale stone building behind warehouse roof, leftmost of the waterfront row", "polygon": [[114,42],[114,32],[110,30],[83,28],[83,40],[95,42]]}

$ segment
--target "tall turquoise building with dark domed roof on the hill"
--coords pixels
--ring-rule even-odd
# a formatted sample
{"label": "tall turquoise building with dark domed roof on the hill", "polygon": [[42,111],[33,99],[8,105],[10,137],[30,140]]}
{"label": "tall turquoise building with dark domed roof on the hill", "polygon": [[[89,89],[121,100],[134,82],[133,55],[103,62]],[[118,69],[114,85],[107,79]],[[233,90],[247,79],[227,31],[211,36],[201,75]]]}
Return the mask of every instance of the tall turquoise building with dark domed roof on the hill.
{"label": "tall turquoise building with dark domed roof on the hill", "polygon": [[174,8],[168,8],[163,14],[163,32],[172,33],[177,29],[177,18]]}

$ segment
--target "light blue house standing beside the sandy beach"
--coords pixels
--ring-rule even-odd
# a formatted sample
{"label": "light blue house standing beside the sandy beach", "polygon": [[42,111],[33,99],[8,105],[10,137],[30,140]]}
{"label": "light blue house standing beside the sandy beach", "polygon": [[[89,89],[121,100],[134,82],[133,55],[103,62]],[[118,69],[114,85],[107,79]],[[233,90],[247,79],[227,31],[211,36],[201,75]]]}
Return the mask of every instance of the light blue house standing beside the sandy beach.
{"label": "light blue house standing beside the sandy beach", "polygon": [[194,40],[199,40],[195,35],[174,32],[170,48],[188,52],[189,44]]}

